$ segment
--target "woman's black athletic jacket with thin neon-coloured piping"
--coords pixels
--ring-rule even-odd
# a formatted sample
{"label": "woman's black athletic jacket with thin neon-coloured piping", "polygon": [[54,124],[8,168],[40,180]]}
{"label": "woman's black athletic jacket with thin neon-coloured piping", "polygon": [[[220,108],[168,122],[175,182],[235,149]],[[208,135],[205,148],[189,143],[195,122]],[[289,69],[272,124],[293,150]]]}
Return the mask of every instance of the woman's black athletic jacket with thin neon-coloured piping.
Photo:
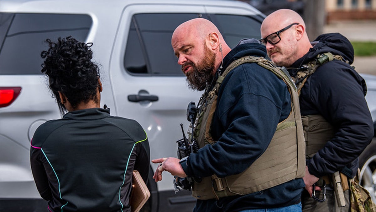
{"label": "woman's black athletic jacket with thin neon-coloured piping", "polygon": [[30,148],[36,187],[51,212],[130,211],[132,171],[147,182],[149,160],[143,128],[100,108],[47,121]]}

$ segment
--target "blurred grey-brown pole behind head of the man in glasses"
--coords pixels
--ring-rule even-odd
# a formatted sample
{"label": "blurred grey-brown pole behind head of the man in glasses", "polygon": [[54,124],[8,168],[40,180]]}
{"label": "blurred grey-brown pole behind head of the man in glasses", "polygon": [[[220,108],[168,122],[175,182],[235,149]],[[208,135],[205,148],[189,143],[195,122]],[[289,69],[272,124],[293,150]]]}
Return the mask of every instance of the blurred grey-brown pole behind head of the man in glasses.
{"label": "blurred grey-brown pole behind head of the man in glasses", "polygon": [[309,40],[313,41],[323,34],[326,11],[325,0],[304,0],[303,19]]}

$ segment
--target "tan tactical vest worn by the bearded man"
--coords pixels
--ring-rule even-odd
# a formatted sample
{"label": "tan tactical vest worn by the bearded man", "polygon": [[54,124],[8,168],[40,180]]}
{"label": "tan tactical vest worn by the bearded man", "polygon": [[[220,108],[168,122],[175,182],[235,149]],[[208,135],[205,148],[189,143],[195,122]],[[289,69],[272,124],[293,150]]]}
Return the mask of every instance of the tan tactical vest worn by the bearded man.
{"label": "tan tactical vest worn by the bearded man", "polygon": [[218,80],[214,88],[200,98],[197,126],[194,131],[199,148],[213,145],[211,122],[217,106],[217,94],[224,77],[233,68],[243,63],[257,63],[284,80],[291,95],[290,115],[278,123],[276,132],[264,154],[240,174],[218,178],[215,174],[204,177],[200,183],[194,182],[192,196],[201,199],[218,199],[233,195],[244,195],[277,186],[305,174],[305,142],[300,118],[299,99],[294,82],[287,72],[277,68],[271,61],[262,57],[246,56],[233,61]]}

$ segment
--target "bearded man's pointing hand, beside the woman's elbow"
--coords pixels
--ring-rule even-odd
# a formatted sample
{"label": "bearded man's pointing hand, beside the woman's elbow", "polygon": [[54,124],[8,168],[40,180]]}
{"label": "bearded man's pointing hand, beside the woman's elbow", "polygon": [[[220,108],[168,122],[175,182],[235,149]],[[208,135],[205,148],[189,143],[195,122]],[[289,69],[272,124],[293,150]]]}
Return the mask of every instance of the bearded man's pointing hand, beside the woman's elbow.
{"label": "bearded man's pointing hand, beside the woman's elbow", "polygon": [[155,170],[153,179],[158,182],[162,180],[162,172],[167,171],[170,172],[171,175],[178,177],[186,177],[182,165],[180,165],[180,160],[178,158],[158,158],[152,160],[153,163],[159,163],[158,168]]}

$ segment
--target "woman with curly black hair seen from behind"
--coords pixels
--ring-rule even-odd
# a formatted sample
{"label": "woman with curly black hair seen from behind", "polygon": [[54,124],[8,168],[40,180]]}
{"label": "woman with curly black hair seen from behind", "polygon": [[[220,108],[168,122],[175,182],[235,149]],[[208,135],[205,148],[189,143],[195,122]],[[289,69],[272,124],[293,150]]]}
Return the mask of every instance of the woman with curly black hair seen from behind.
{"label": "woman with curly black hair seen from behind", "polygon": [[135,120],[100,108],[92,43],[72,37],[46,41],[42,73],[60,112],[67,112],[39,126],[31,141],[31,169],[47,211],[130,211],[133,169],[148,179],[147,135]]}

